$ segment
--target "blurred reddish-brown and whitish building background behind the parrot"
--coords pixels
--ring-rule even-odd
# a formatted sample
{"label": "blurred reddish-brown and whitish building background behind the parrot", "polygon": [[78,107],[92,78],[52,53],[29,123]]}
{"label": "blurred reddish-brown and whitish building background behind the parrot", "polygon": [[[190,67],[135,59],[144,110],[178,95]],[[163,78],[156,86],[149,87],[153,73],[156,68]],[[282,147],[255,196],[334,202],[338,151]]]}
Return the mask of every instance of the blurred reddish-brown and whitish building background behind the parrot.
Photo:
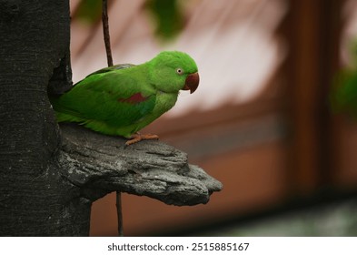
{"label": "blurred reddish-brown and whitish building background behind the parrot", "polygon": [[[101,3],[70,0],[74,82],[106,66]],[[357,235],[357,125],[332,115],[357,35],[355,0],[109,0],[114,63],[187,52],[201,77],[146,128],[223,183],[206,205],[123,195],[124,233]],[[115,194],[91,235],[115,236]]]}

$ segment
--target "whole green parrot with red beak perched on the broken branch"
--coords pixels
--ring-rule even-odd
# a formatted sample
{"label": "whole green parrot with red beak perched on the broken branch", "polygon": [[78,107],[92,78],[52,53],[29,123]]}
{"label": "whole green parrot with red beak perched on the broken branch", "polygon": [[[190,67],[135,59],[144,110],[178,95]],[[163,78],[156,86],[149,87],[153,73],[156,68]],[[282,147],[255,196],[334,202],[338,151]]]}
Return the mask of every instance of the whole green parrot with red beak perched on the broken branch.
{"label": "whole green parrot with red beak perched on the broken branch", "polygon": [[58,122],[76,122],[105,135],[129,138],[126,145],[131,145],[157,139],[137,132],[174,107],[181,89],[193,93],[198,84],[191,56],[164,51],[141,65],[100,69],[50,100]]}

